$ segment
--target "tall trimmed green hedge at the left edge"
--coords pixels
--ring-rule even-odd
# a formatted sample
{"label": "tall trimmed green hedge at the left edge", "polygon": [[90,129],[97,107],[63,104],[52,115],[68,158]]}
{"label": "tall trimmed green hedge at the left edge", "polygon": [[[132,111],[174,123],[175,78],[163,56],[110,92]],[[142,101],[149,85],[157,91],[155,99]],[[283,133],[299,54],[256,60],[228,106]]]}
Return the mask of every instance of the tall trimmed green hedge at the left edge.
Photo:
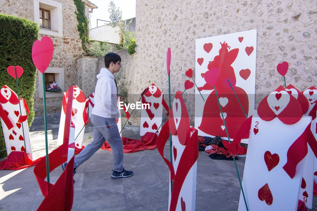
{"label": "tall trimmed green hedge at the left edge", "polygon": [[[28,124],[31,126],[37,73],[32,61],[32,45],[38,39],[38,25],[24,18],[0,13],[0,35],[0,88],[7,85],[17,93],[16,80],[8,74],[7,67],[13,65],[23,68],[23,74],[18,79],[19,94],[29,106]],[[0,157],[6,157],[1,124],[0,127]]]}

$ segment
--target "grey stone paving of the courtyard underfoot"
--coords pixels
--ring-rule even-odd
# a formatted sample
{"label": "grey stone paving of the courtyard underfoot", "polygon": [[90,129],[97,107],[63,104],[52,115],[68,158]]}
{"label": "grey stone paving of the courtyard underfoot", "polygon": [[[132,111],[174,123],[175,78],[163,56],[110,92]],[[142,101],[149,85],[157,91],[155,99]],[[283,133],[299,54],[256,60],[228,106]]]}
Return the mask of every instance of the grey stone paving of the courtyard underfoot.
{"label": "grey stone paving of the courtyard underfoot", "polygon": [[[50,152],[57,147],[60,114],[50,114],[48,119]],[[30,128],[34,159],[45,155],[43,122],[43,116],[36,116]],[[88,123],[84,146],[93,140],[92,131],[92,124]],[[123,136],[140,139],[139,127],[127,125]],[[165,152],[169,154],[168,148],[166,144]],[[237,160],[241,179],[244,162],[245,157]],[[131,177],[111,179],[112,165],[112,153],[98,150],[77,169],[72,210],[168,210],[169,173],[157,149],[124,154],[124,166],[134,172]],[[29,211],[39,207],[43,196],[33,169],[0,171],[0,210]],[[50,182],[54,183],[61,172],[61,168],[56,168],[50,174]],[[233,161],[212,160],[200,151],[195,210],[237,210],[239,197],[240,185]],[[316,209],[315,200],[312,210]]]}

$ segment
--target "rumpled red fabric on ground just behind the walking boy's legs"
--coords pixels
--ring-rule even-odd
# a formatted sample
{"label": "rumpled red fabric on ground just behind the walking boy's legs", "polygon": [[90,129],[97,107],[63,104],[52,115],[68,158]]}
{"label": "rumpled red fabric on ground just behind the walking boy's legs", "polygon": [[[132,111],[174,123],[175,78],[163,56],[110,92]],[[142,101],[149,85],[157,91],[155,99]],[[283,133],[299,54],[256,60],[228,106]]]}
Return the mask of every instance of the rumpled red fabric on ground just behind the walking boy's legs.
{"label": "rumpled red fabric on ground just behind the walking boy's legs", "polygon": [[[122,137],[123,152],[132,153],[142,150],[153,150],[156,148],[157,138],[157,135],[152,132],[146,132],[141,137],[141,140]],[[111,151],[111,147],[107,141],[105,141],[100,149]]]}

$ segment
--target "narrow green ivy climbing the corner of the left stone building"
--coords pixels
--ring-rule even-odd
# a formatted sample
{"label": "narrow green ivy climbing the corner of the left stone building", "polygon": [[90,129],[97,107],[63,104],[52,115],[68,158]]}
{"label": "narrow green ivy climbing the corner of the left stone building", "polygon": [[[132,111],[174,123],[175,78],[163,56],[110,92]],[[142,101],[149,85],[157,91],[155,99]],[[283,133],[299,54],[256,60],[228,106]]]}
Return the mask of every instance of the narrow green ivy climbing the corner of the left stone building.
{"label": "narrow green ivy climbing the corner of the left stone building", "polygon": [[84,3],[81,0],[74,0],[74,4],[77,7],[75,14],[78,21],[77,29],[81,38],[81,47],[87,53],[86,43],[89,41],[89,20],[85,15]]}

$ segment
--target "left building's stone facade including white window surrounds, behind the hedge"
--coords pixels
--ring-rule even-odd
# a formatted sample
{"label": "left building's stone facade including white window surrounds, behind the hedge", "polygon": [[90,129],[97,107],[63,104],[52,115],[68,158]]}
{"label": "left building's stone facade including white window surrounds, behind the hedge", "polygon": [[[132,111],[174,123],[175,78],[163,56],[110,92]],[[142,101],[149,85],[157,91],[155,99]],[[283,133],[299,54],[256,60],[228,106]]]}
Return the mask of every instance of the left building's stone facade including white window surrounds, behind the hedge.
{"label": "left building's stone facade including white window surrounds, behind the hedge", "polygon": [[[93,3],[82,0],[85,13],[97,8]],[[54,73],[57,86],[62,93],[46,93],[47,113],[61,112],[63,92],[68,86],[78,84],[76,58],[84,51],[77,30],[78,21],[75,15],[76,5],[73,0],[5,0],[0,3],[0,13],[26,18],[39,23],[39,8],[50,11],[51,29],[40,28],[39,40],[49,36],[54,43],[54,54],[45,73]],[[48,87],[46,87],[48,88]],[[36,115],[43,114],[43,87],[42,74],[36,80],[36,93],[34,96],[34,110]]]}

